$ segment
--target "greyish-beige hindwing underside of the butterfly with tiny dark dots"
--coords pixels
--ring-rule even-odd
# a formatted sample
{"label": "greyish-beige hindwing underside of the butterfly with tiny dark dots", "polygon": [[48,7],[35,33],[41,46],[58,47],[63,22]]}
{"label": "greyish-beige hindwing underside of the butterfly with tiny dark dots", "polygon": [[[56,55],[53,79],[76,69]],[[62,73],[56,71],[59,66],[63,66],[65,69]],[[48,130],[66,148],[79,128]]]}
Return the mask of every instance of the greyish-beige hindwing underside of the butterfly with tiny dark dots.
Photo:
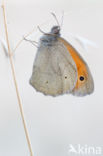
{"label": "greyish-beige hindwing underside of the butterfly with tiny dark dots", "polygon": [[30,84],[37,91],[57,96],[71,92],[76,81],[76,65],[61,42],[38,48],[30,78]]}

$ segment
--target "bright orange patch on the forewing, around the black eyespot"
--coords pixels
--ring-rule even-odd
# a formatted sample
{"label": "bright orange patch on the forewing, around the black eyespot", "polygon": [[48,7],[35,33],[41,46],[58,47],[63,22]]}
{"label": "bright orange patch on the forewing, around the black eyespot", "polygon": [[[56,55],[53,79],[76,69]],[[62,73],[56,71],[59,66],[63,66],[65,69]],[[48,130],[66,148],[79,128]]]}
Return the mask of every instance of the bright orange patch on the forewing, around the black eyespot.
{"label": "bright orange patch on the forewing, around the black eyespot", "polygon": [[77,67],[77,73],[78,73],[78,79],[77,79],[77,83],[75,86],[75,89],[79,88],[83,82],[80,81],[80,76],[84,76],[84,78],[87,78],[87,68],[86,68],[86,64],[83,61],[83,59],[80,57],[80,55],[78,54],[78,52],[75,50],[75,48],[72,47],[72,45],[70,45],[66,40],[64,40],[63,38],[59,37],[58,38],[59,41],[61,41],[65,47],[67,48],[67,50],[70,52],[76,67]]}

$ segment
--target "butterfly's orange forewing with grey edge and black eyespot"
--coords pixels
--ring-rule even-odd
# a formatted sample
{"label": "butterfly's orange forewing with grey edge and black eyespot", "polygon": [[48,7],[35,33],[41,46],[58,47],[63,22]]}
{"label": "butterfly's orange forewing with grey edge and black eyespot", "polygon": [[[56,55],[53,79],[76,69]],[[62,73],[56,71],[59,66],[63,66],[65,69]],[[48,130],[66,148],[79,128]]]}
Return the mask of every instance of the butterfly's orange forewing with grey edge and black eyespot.
{"label": "butterfly's orange forewing with grey edge and black eyespot", "polygon": [[71,93],[77,96],[85,96],[87,94],[91,94],[94,91],[94,82],[88,65],[71,44],[69,44],[63,38],[59,38],[59,41],[61,41],[65,45],[77,67],[77,83]]}

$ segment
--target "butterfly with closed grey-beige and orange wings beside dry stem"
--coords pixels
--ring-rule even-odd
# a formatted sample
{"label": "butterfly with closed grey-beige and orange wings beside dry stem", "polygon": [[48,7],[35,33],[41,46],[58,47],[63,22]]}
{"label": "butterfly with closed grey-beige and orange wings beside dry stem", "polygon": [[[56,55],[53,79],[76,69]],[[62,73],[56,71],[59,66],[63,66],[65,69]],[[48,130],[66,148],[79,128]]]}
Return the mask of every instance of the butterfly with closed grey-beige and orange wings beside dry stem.
{"label": "butterfly with closed grey-beige and orange wings beside dry stem", "polygon": [[45,95],[85,96],[94,91],[87,63],[69,42],[61,37],[60,26],[53,26],[40,38],[30,84]]}

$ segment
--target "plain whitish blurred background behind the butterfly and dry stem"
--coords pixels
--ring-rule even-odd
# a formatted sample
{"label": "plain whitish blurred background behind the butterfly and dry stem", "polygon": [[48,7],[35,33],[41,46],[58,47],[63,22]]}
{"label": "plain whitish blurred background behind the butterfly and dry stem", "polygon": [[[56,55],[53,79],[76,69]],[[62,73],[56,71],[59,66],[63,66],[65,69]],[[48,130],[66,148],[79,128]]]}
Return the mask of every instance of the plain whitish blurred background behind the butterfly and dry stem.
{"label": "plain whitish blurred background behind the butterfly and dry stem", "polygon": [[[1,2],[0,2],[1,3]],[[6,15],[11,48],[37,25],[48,32],[64,11],[62,36],[71,41],[88,62],[95,91],[86,97],[63,95],[56,98],[37,93],[29,78],[36,47],[22,42],[14,64],[18,87],[34,156],[68,156],[69,144],[103,145],[103,0],[8,0]],[[87,52],[69,36],[80,35],[94,41]],[[28,38],[38,41],[35,29]],[[0,9],[0,38],[5,39]],[[29,156],[8,58],[0,44],[0,156]]]}

